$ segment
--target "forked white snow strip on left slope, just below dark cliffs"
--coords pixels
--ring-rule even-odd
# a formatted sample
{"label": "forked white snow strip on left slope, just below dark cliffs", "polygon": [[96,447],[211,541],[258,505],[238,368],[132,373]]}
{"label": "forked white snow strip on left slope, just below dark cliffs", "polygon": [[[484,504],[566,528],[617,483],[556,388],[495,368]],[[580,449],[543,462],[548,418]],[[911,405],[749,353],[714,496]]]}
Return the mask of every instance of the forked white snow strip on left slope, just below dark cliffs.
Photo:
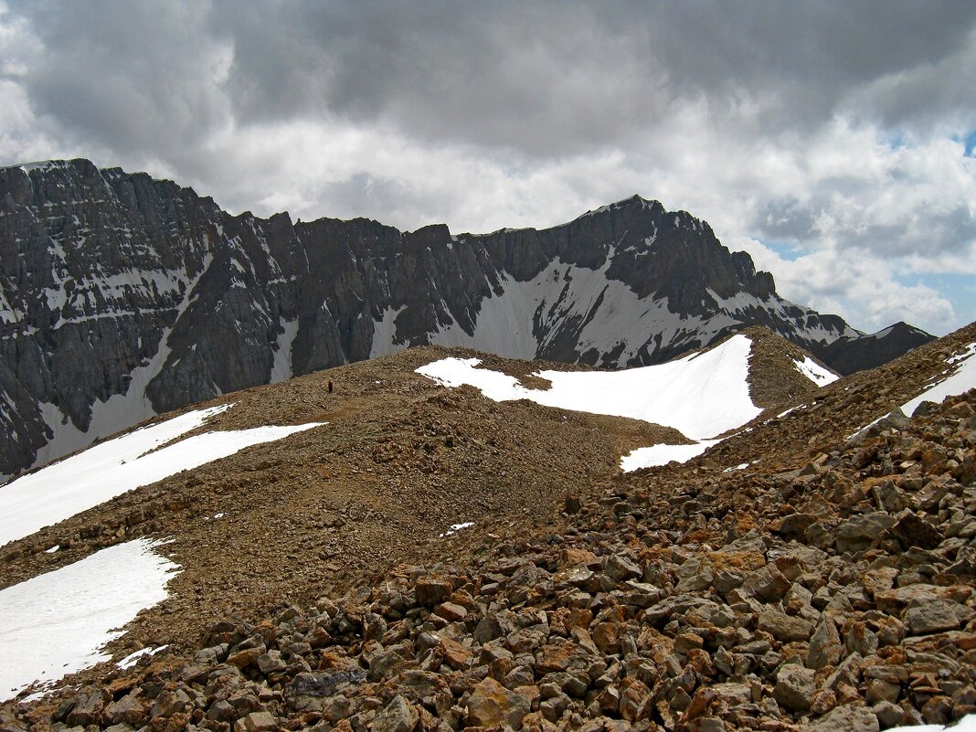
{"label": "forked white snow strip on left slope, just below dark cliffs", "polygon": [[320,424],[206,432],[166,444],[230,406],[187,412],[142,427],[0,487],[0,547],[180,470]]}

